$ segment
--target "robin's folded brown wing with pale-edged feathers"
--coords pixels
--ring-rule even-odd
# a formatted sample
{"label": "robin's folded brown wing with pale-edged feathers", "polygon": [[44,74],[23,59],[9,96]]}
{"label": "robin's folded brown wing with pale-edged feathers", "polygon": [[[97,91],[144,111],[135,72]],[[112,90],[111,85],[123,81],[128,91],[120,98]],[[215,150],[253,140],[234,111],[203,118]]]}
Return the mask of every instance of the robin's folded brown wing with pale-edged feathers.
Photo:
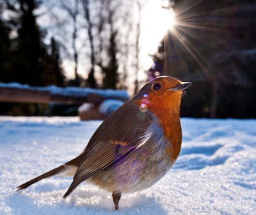
{"label": "robin's folded brown wing with pale-edged feathers", "polygon": [[131,101],[121,106],[96,130],[84,150],[67,197],[83,181],[100,171],[116,166],[128,158],[151,137],[147,130],[152,119],[141,113]]}

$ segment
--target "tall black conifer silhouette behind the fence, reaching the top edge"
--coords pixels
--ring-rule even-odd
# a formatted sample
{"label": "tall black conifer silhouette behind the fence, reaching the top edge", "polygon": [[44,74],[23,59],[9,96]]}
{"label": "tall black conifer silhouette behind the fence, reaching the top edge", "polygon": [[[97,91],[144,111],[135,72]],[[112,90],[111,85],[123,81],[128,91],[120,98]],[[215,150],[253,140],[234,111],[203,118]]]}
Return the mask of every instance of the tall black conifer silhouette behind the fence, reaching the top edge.
{"label": "tall black conifer silhouette behind the fence, reaching the top edge", "polygon": [[[42,86],[44,48],[42,36],[33,11],[38,3],[35,0],[19,0],[21,17],[18,27],[18,65],[21,83]],[[18,69],[18,68],[17,68]]]}

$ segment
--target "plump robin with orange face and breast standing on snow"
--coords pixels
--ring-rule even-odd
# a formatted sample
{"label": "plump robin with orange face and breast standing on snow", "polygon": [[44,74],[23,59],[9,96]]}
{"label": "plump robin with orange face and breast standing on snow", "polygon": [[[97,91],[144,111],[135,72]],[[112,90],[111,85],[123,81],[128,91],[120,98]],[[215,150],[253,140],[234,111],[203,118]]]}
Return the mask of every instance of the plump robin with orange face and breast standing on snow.
{"label": "plump robin with orange face and breast standing on snow", "polygon": [[51,176],[74,176],[64,198],[86,181],[112,192],[119,209],[122,193],[149,188],[174,165],[182,145],[180,99],[191,84],[166,76],[152,79],[103,121],[78,157],[17,190]]}

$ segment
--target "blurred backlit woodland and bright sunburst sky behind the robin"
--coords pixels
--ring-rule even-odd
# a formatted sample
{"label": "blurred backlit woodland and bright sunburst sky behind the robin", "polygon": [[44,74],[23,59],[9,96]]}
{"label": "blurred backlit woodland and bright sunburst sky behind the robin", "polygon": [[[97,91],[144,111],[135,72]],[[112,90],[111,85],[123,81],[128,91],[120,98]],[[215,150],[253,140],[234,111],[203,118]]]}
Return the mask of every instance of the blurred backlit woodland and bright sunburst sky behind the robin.
{"label": "blurred backlit woodland and bright sunburst sky behind the robin", "polygon": [[[0,0],[0,82],[131,97],[170,75],[193,82],[182,117],[256,118],[255,38],[256,1]],[[0,99],[9,116],[77,116],[78,107]]]}

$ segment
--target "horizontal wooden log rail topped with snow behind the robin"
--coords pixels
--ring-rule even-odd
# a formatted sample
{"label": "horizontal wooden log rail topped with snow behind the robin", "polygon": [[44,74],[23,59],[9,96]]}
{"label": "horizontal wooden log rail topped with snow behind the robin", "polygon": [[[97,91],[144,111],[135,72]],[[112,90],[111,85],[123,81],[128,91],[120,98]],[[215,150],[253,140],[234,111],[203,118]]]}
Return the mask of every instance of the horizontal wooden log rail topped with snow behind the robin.
{"label": "horizontal wooden log rail topped with snow behind the robin", "polygon": [[85,102],[101,103],[105,99],[127,101],[128,93],[125,90],[100,90],[80,87],[47,87],[21,85],[20,83],[0,82],[1,102],[23,103],[65,103],[81,105]]}

